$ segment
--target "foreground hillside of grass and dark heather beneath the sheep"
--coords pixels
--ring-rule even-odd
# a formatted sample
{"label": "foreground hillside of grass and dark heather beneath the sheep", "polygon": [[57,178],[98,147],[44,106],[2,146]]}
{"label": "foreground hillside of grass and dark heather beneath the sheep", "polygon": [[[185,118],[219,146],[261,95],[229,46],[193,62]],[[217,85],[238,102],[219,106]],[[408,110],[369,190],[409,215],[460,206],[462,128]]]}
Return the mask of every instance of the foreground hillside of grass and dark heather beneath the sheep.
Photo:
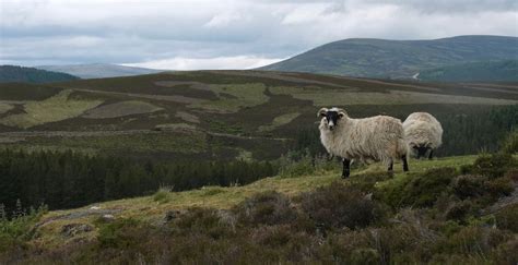
{"label": "foreground hillside of grass and dark heather beneath the sheep", "polygon": [[[516,170],[516,157],[411,165],[410,174],[397,170],[393,179],[373,165],[348,180],[325,170],[0,219],[0,262],[517,261],[518,180],[505,174]],[[466,172],[492,177],[459,176]],[[482,182],[492,189],[481,191]]]}

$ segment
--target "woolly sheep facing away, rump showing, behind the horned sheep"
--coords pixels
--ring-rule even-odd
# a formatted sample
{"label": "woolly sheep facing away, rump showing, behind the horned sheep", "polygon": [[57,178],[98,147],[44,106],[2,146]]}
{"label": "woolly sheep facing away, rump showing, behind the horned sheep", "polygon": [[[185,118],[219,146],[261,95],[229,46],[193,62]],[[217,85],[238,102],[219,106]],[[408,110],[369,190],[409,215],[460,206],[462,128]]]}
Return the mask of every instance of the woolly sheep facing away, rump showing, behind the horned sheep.
{"label": "woolly sheep facing away, rump showing, behind the horned sheep", "polygon": [[[443,144],[443,127],[440,122],[427,112],[413,112],[403,122],[408,145],[416,152],[417,159],[433,158],[434,150]],[[414,152],[414,153],[415,153]]]}

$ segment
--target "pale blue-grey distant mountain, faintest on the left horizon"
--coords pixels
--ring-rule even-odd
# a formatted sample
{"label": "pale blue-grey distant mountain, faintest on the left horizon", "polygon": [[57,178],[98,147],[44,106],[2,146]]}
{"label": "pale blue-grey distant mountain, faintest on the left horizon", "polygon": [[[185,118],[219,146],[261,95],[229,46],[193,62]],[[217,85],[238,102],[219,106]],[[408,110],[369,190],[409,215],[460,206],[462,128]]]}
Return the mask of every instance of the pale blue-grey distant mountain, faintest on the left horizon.
{"label": "pale blue-grey distant mountain, faintest on the left horizon", "polygon": [[36,67],[47,71],[58,71],[73,74],[81,79],[104,79],[116,76],[131,76],[163,72],[164,70],[133,68],[109,63],[69,64],[69,65],[42,65]]}

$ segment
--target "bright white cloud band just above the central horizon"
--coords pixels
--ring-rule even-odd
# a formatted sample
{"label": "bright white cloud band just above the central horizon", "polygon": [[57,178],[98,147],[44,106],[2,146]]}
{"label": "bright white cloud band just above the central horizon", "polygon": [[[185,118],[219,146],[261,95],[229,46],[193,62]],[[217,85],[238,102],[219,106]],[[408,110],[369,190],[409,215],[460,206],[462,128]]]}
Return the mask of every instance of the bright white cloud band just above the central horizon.
{"label": "bright white cloud band just above the central horizon", "polygon": [[256,56],[235,56],[215,58],[184,58],[175,57],[162,60],[152,60],[138,63],[122,63],[128,67],[168,70],[234,70],[255,69],[274,63],[285,58],[262,58]]}

